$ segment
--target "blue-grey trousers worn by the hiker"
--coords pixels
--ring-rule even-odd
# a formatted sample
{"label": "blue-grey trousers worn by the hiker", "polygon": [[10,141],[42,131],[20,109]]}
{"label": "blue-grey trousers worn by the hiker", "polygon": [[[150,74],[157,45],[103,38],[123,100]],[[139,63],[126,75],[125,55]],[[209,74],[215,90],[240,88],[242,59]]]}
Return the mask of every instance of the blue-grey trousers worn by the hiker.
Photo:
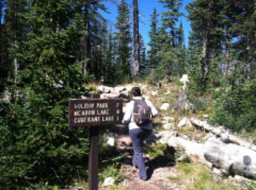
{"label": "blue-grey trousers worn by the hiker", "polygon": [[133,143],[133,165],[139,168],[139,177],[147,179],[145,161],[143,158],[143,141],[152,133],[152,129],[131,129],[129,135]]}

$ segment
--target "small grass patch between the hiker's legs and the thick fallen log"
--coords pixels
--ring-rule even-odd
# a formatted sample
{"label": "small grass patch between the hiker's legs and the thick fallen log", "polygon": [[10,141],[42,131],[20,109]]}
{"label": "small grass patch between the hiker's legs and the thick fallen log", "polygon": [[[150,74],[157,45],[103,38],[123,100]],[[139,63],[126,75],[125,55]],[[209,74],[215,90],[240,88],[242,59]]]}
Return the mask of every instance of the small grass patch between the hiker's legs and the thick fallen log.
{"label": "small grass patch between the hiker's legs and the thick fallen log", "polygon": [[166,149],[166,147],[167,147],[167,144],[161,144],[161,143],[157,143],[154,146],[146,144],[143,147],[143,152],[145,154],[150,155],[151,158],[155,158],[158,156],[163,156],[164,150]]}

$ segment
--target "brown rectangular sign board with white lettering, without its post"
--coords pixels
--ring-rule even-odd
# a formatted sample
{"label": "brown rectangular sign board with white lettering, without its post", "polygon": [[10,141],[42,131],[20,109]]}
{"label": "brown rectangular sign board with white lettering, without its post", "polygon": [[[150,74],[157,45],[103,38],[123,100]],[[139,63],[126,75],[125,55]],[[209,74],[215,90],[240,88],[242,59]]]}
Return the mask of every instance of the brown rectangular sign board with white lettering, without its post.
{"label": "brown rectangular sign board with white lettering, without its post", "polygon": [[122,99],[69,100],[69,126],[103,126],[120,124]]}

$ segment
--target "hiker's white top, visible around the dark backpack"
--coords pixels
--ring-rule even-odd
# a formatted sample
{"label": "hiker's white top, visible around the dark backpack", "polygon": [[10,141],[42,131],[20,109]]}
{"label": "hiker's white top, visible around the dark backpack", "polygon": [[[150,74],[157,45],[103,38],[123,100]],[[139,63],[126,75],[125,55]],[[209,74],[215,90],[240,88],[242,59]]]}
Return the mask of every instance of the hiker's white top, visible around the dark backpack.
{"label": "hiker's white top, visible around the dark backpack", "polygon": [[[133,100],[142,100],[142,97],[141,96],[135,96],[133,98]],[[130,101],[128,104],[127,104],[127,107],[126,107],[126,110],[125,110],[125,113],[124,113],[124,117],[123,117],[123,123],[129,123],[129,130],[131,129],[138,129],[138,128],[143,128],[143,129],[152,129],[153,128],[153,124],[152,123],[149,123],[147,125],[144,125],[144,126],[138,126],[135,122],[134,122],[134,119],[133,119],[133,107],[134,107],[134,101]],[[157,116],[158,114],[158,111],[156,110],[156,107],[152,104],[152,102],[150,100],[146,100],[145,99],[145,102],[148,106],[150,106],[151,108],[151,112],[152,112],[152,116]]]}

